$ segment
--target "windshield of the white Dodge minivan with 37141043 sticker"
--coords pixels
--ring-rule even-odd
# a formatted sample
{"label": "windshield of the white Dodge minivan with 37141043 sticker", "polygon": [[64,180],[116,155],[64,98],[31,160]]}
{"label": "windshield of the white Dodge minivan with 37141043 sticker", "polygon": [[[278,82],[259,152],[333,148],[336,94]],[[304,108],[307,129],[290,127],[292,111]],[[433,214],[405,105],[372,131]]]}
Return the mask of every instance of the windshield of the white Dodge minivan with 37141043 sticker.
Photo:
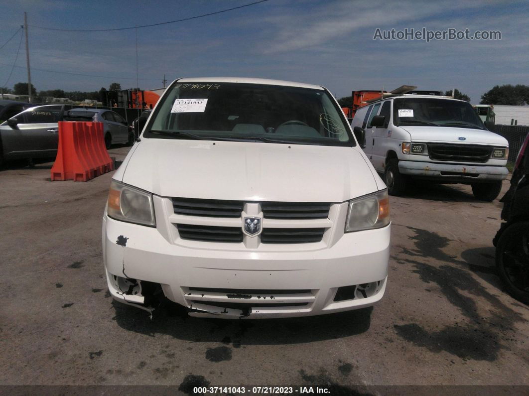
{"label": "windshield of the white Dodge minivan with 37141043 sticker", "polygon": [[238,82],[172,85],[144,137],[355,145],[341,110],[323,89]]}

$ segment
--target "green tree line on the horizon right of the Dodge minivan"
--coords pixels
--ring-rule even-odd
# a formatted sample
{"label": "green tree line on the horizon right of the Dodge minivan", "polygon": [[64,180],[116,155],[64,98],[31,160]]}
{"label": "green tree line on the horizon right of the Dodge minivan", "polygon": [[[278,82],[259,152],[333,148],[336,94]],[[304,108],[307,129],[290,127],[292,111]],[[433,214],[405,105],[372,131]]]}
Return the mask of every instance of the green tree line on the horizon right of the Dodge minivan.
{"label": "green tree line on the horizon right of the Dodge minivan", "polygon": [[[452,90],[445,91],[445,96],[452,96]],[[459,89],[455,88],[454,98],[466,100],[470,102],[470,97],[463,94]],[[338,103],[342,107],[350,107],[352,104],[351,96],[344,96],[338,99]],[[529,86],[517,84],[517,85],[496,85],[489,89],[485,94],[481,95],[482,105],[510,105],[510,106],[521,106],[523,104],[529,104]]]}

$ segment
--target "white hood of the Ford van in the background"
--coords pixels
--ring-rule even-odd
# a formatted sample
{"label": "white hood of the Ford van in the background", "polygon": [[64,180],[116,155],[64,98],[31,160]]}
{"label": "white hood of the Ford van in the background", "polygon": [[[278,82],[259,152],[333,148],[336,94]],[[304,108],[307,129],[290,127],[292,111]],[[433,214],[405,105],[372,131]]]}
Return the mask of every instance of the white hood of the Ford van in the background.
{"label": "white hood of the Ford van in the background", "polygon": [[[505,137],[494,132],[449,126],[400,126],[412,136],[412,142],[475,143],[508,146]],[[464,137],[464,140],[459,139]]]}

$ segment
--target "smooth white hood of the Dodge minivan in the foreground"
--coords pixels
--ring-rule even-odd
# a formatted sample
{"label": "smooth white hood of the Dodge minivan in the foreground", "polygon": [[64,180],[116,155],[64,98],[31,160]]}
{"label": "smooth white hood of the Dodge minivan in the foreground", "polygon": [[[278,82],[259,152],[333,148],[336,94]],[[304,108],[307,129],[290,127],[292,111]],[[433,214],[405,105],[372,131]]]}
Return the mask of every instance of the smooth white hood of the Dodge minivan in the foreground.
{"label": "smooth white hood of the Dodge minivan in the foreground", "polygon": [[133,149],[114,178],[162,197],[342,202],[378,190],[357,148],[142,138]]}

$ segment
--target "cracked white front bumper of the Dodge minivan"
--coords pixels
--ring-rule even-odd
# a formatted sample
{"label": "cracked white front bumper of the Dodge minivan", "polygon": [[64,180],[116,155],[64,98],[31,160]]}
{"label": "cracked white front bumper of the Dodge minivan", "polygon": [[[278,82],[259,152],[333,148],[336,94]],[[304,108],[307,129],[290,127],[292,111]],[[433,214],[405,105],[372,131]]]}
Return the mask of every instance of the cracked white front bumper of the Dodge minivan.
{"label": "cracked white front bumper of the Dodge minivan", "polygon": [[[371,306],[386,289],[389,242],[387,226],[343,234],[332,246],[307,250],[221,250],[207,243],[195,248],[168,242],[157,228],[103,217],[112,296],[144,307],[140,289],[124,293],[116,277],[158,283],[165,297],[192,316],[278,318]],[[355,291],[352,299],[334,301],[338,288],[353,285],[364,291],[358,287],[361,293]]]}

